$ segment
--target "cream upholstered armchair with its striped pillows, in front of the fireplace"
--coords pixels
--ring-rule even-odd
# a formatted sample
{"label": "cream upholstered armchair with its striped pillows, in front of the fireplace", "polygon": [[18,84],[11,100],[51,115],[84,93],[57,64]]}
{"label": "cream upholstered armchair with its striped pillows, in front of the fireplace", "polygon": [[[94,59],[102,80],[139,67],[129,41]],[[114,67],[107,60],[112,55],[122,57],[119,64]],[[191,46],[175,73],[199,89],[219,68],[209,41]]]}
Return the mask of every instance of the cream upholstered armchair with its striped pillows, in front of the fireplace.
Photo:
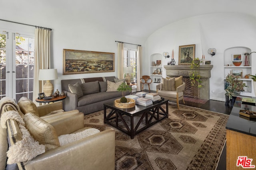
{"label": "cream upholstered armchair with its striped pillows, in front of the fireplace", "polygon": [[160,97],[177,102],[177,107],[180,109],[179,100],[183,100],[183,91],[185,90],[185,82],[182,81],[182,76],[177,78],[162,78],[163,82],[156,85],[157,93]]}

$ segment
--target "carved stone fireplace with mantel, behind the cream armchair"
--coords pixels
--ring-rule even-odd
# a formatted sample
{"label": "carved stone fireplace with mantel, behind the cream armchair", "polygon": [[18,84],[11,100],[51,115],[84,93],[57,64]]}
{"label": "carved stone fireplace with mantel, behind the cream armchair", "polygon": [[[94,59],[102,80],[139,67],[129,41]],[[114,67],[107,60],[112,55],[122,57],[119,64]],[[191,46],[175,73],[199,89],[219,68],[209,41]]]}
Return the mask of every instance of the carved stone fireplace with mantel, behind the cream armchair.
{"label": "carved stone fireplace with mantel, behind the cream armchair", "polygon": [[202,80],[202,88],[192,86],[189,80],[190,65],[164,65],[166,76],[183,76],[182,80],[186,83],[184,96],[210,100],[210,80],[213,65],[200,65],[199,73]]}

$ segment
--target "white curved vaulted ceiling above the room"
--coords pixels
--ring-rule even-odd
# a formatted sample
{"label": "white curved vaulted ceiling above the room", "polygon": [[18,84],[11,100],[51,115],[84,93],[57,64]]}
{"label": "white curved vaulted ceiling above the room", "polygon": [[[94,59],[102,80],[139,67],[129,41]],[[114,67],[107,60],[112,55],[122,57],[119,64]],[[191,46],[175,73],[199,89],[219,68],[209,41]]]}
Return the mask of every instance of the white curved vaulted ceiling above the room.
{"label": "white curved vaulted ceiling above the room", "polygon": [[94,25],[144,40],[157,29],[192,16],[227,12],[256,17],[256,0],[0,0],[0,4],[0,19],[53,29],[57,23]]}

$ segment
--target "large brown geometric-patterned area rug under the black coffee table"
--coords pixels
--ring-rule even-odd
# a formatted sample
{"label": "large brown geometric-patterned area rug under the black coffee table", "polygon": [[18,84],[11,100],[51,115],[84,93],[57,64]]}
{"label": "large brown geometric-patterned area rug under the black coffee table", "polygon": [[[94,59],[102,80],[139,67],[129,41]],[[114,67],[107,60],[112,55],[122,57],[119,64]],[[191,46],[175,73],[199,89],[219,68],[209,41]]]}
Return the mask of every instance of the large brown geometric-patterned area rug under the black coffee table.
{"label": "large brown geometric-patterned area rug under the black coffee table", "polygon": [[[109,111],[109,110],[107,110]],[[103,110],[84,116],[85,126],[104,131]],[[216,169],[226,141],[228,115],[169,104],[169,118],[135,135],[116,131],[116,170]]]}

